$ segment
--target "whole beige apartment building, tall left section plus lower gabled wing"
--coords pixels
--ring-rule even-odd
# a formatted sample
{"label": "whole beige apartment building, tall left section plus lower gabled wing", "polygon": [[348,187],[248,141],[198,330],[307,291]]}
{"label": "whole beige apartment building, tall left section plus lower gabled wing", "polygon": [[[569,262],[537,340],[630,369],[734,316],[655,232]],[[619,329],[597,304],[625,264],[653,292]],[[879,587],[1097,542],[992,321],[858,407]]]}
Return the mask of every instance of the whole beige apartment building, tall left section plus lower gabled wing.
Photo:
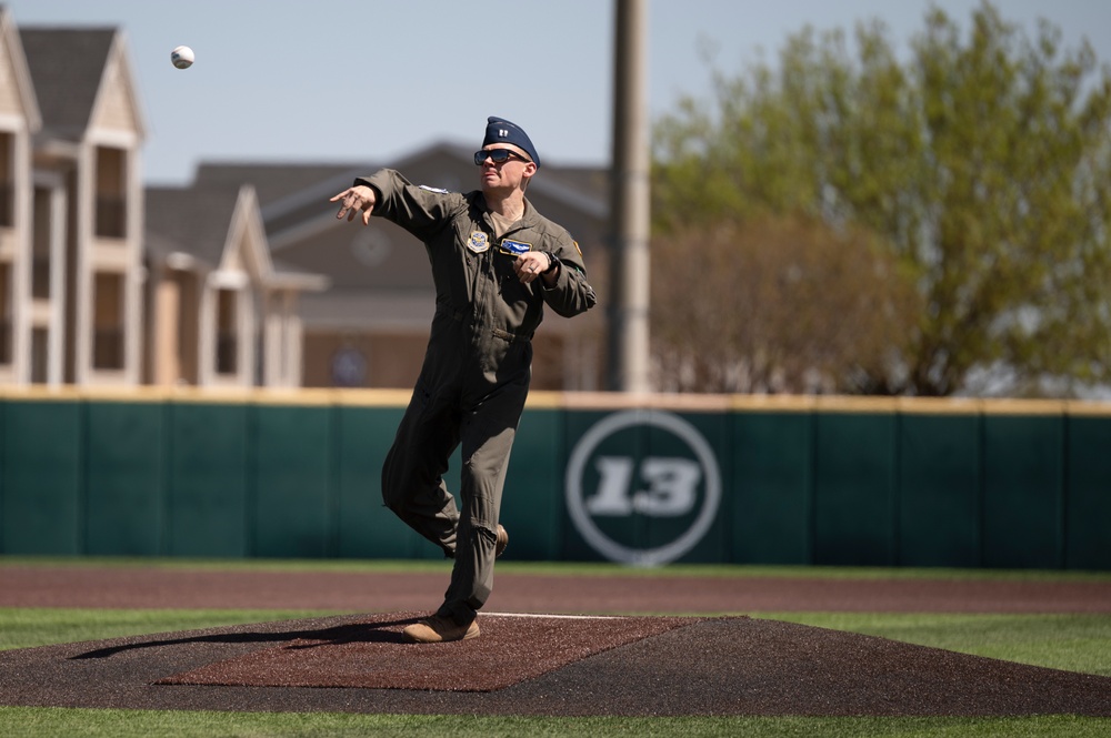
{"label": "whole beige apartment building, tall left section plus lower gabled wing", "polygon": [[0,7],[0,384],[300,386],[327,281],[274,266],[249,185],[148,192],[140,99],[118,29]]}

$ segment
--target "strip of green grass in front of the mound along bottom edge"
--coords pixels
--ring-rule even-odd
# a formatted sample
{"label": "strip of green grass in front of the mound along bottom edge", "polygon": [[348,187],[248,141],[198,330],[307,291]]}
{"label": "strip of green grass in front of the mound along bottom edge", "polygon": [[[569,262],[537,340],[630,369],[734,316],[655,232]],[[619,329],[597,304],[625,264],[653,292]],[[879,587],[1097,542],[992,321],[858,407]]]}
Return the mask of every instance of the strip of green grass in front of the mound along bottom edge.
{"label": "strip of green grass in front of the mound along bottom edge", "polygon": [[0,707],[4,736],[942,736],[1097,738],[1099,718],[494,718],[473,716],[343,715],[334,712],[173,712]]}

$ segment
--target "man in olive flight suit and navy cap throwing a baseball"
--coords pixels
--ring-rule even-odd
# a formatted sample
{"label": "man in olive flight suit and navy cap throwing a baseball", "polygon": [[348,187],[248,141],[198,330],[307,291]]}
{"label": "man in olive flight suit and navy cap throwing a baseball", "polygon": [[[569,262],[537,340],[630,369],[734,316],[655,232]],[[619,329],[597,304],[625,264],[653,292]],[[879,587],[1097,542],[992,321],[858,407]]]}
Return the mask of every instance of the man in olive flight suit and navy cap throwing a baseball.
{"label": "man in olive flight suit and navy cap throwing a baseball", "polygon": [[[413,643],[479,635],[477,615],[509,542],[498,524],[510,448],[529,393],[532,334],[544,303],[565,317],[595,303],[578,244],[526,199],[540,158],[520,127],[488,120],[474,153],[481,189],[411,184],[392,170],[359,178],[331,202],[337,218],[384,218],[423,241],[436,284],[424,363],[382,468],[390,509],[454,559],[434,615],[408,626]],[[443,473],[462,447],[460,504]]]}

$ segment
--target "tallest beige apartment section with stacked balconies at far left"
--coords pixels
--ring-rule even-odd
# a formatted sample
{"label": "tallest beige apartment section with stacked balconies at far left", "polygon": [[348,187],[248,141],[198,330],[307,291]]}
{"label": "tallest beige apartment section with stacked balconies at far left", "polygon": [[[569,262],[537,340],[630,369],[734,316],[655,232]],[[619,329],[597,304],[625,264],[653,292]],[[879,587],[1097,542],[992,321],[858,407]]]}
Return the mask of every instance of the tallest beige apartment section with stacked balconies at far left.
{"label": "tallest beige apartment section with stacked balconies at far left", "polygon": [[0,376],[134,384],[144,122],[126,49],[106,30],[18,31],[6,10],[0,34]]}

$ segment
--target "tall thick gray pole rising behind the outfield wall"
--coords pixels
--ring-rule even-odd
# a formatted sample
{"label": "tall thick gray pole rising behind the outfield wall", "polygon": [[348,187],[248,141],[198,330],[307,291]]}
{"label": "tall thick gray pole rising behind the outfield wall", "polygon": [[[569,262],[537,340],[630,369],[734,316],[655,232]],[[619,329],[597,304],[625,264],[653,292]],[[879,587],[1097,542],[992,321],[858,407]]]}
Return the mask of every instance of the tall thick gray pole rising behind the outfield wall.
{"label": "tall thick gray pole rising behind the outfield wall", "polygon": [[648,392],[648,0],[617,1],[609,388]]}

